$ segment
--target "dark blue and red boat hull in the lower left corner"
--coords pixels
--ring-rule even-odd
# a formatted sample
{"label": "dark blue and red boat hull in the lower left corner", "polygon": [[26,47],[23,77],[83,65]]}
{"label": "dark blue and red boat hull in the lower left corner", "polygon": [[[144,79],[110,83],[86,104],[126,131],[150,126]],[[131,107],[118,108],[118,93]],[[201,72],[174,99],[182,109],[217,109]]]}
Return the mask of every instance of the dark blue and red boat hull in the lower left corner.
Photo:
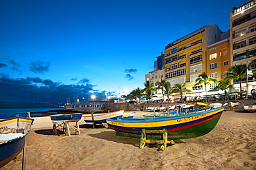
{"label": "dark blue and red boat hull in the lower left corner", "polygon": [[25,136],[0,144],[0,168],[8,164],[25,146]]}

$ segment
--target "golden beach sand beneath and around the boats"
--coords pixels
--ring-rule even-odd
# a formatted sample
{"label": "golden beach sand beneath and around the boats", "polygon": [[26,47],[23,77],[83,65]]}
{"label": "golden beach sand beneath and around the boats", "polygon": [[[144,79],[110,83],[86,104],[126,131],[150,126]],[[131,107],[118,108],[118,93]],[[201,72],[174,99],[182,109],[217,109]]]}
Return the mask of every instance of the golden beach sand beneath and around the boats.
{"label": "golden beach sand beneath and around the boats", "polygon": [[[209,134],[174,140],[165,151],[139,149],[139,139],[88,128],[83,120],[80,125],[80,136],[55,136],[50,117],[35,118],[26,138],[26,169],[256,169],[256,113],[225,111]],[[21,169],[21,155],[1,169]]]}

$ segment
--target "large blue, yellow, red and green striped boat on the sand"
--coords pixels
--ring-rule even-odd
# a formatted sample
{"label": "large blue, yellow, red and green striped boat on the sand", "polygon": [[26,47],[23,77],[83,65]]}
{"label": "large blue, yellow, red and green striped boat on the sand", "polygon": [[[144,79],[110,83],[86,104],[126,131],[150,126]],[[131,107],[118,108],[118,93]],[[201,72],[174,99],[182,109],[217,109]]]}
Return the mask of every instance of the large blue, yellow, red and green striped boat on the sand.
{"label": "large blue, yellow, red and green striped boat on the sand", "polygon": [[[224,107],[202,111],[196,114],[169,118],[118,118],[107,119],[109,128],[116,131],[117,136],[140,138],[141,131],[167,131],[168,140],[195,138],[208,134],[218,123]],[[149,134],[147,138],[161,139],[161,134]]]}

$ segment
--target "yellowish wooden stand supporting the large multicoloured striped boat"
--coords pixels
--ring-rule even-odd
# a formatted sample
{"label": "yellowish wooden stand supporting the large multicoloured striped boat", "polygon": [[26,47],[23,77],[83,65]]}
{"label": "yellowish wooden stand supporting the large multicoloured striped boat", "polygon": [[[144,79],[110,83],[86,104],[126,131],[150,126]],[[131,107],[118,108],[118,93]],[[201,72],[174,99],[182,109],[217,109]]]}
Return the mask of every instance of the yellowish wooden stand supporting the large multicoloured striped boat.
{"label": "yellowish wooden stand supporting the large multicoloured striped boat", "polygon": [[[158,134],[162,133],[163,134],[163,140],[157,140],[157,139],[147,139],[147,134]],[[143,129],[141,131],[141,136],[140,136],[140,148],[145,147],[146,144],[161,144],[161,150],[165,150],[167,147],[167,143],[171,145],[175,145],[173,140],[167,140],[167,131],[166,129],[163,130],[145,130]]]}

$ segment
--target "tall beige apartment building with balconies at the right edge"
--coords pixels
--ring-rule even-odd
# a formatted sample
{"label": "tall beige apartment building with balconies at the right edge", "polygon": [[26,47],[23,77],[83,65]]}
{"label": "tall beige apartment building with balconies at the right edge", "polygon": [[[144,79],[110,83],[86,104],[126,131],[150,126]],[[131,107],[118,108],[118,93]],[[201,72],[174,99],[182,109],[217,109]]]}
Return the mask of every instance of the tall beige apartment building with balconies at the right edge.
{"label": "tall beige apartment building with balconies at the right edge", "polygon": [[[230,53],[231,65],[248,64],[256,59],[256,1],[248,1],[230,12]],[[256,65],[250,65],[252,69]],[[249,87],[256,87],[254,78],[248,78]],[[234,82],[235,89],[239,84]],[[246,81],[242,83],[246,89]],[[250,90],[249,89],[249,90]]]}

